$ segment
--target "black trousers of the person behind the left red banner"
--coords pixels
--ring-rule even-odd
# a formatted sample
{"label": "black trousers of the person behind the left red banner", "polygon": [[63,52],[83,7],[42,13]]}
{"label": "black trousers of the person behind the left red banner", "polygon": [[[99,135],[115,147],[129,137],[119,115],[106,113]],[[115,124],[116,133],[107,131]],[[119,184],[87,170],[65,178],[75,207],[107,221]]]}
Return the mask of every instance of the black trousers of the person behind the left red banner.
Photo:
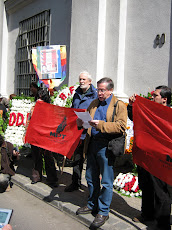
{"label": "black trousers of the person behind the left red banner", "polygon": [[34,168],[32,170],[32,180],[34,182],[42,180],[42,169],[43,169],[43,159],[45,160],[45,171],[47,175],[47,181],[49,183],[57,182],[57,172],[54,163],[54,158],[52,152],[39,148],[37,146],[31,146],[32,157],[34,161]]}

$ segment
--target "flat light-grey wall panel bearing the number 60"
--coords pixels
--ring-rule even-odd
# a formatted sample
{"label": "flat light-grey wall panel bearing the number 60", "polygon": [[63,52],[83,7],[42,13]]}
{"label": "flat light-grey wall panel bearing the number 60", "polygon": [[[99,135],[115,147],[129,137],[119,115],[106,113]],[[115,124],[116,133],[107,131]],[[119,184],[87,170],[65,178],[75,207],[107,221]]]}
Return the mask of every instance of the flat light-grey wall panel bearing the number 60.
{"label": "flat light-grey wall panel bearing the number 60", "polygon": [[[171,1],[128,1],[125,58],[125,93],[146,94],[158,85],[168,85],[171,38]],[[155,46],[157,34],[166,35]]]}

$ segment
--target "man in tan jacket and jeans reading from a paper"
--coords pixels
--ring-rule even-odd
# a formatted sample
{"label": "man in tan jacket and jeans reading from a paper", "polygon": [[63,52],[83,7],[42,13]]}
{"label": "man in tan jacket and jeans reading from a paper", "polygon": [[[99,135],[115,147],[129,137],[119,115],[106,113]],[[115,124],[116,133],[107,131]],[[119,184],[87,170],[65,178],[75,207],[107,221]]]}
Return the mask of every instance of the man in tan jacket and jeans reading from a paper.
{"label": "man in tan jacket and jeans reading from a paper", "polygon": [[[87,206],[79,208],[76,214],[96,212],[92,227],[98,228],[109,218],[110,204],[113,195],[114,158],[108,151],[109,140],[115,135],[123,134],[127,124],[127,107],[119,101],[112,122],[114,106],[118,99],[112,94],[113,81],[102,78],[97,82],[98,99],[88,107],[92,117],[91,128],[85,139],[84,153],[87,153],[86,179],[89,189]],[[77,120],[78,126],[82,121]],[[101,188],[100,188],[101,175]]]}

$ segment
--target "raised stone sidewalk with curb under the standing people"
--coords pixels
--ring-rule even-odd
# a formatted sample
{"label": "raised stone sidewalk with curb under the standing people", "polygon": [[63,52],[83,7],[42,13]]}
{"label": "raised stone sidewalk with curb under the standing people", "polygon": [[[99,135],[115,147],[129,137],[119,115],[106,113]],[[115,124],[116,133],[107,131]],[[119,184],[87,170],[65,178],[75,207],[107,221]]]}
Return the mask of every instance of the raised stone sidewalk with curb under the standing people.
{"label": "raised stone sidewalk with curb under the standing people", "polygon": [[[43,182],[31,184],[31,170],[33,162],[31,158],[26,157],[27,153],[22,153],[18,162],[16,175],[12,177],[12,181],[32,193],[43,201],[68,213],[73,218],[82,222],[86,226],[90,226],[94,217],[91,214],[76,216],[76,210],[85,206],[87,203],[88,190],[85,180],[85,169],[83,170],[82,189],[72,193],[64,192],[66,185],[71,183],[72,168],[65,167],[64,172],[58,171],[59,186],[58,188],[50,188],[46,185],[46,178]],[[141,223],[134,223],[132,218],[140,214],[141,199],[135,197],[126,197],[119,195],[115,190],[111,203],[111,211],[109,220],[100,229],[114,230],[134,230],[149,229]]]}

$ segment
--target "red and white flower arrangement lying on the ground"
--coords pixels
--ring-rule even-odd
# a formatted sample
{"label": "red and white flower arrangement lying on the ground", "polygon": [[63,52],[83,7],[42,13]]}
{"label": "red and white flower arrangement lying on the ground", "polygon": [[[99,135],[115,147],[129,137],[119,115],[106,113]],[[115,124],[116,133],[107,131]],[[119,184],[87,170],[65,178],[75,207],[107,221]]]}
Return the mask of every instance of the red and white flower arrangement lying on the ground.
{"label": "red and white flower arrangement lying on the ground", "polygon": [[114,188],[124,195],[131,197],[142,196],[142,191],[139,189],[138,177],[132,173],[119,173],[114,180]]}

